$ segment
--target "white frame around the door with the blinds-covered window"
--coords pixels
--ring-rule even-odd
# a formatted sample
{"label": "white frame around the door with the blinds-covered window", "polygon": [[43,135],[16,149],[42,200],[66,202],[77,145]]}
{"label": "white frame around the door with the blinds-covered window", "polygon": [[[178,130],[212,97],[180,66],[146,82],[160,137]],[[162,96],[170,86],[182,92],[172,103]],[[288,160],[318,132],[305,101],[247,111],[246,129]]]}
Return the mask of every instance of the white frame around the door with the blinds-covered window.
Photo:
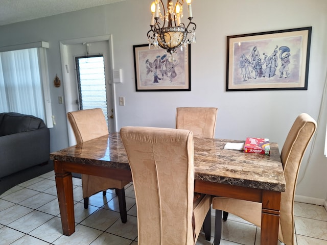
{"label": "white frame around the door with the blinds-covered window", "polygon": [[[63,78],[63,92],[64,92],[64,98],[65,102],[70,101],[69,98],[71,98],[71,94],[73,93],[72,87],[69,86],[71,83],[75,83],[75,81],[71,81],[71,77],[68,76],[69,70],[66,68],[68,64],[68,47],[67,45],[72,44],[81,44],[84,42],[99,42],[99,41],[107,41],[108,42],[108,71],[109,71],[109,77],[108,77],[108,83],[109,86],[111,86],[111,96],[112,96],[112,108],[113,108],[113,128],[114,131],[117,131],[117,118],[116,118],[116,96],[115,96],[115,84],[113,83],[113,72],[114,69],[113,66],[113,47],[112,47],[112,35],[104,35],[104,36],[96,36],[96,37],[85,37],[85,38],[76,38],[76,39],[69,39],[69,40],[63,40],[59,41],[60,44],[60,57],[61,57],[61,69],[62,69],[62,78]],[[65,103],[65,109],[66,113],[73,111],[73,106],[71,103]],[[69,124],[68,119],[66,118],[67,122],[67,133],[68,133],[68,141],[69,145],[76,144],[75,135],[73,132],[73,129],[71,125]]]}

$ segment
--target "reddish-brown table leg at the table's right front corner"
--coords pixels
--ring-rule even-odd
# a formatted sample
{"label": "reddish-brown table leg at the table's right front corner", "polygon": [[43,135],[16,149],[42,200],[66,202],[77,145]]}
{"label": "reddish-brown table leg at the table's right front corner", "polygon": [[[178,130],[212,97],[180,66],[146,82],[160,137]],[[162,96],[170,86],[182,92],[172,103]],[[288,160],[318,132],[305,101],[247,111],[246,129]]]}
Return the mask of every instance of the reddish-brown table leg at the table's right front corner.
{"label": "reddish-brown table leg at the table's right front corner", "polygon": [[279,210],[281,209],[281,192],[263,190],[261,214],[261,244],[278,243]]}

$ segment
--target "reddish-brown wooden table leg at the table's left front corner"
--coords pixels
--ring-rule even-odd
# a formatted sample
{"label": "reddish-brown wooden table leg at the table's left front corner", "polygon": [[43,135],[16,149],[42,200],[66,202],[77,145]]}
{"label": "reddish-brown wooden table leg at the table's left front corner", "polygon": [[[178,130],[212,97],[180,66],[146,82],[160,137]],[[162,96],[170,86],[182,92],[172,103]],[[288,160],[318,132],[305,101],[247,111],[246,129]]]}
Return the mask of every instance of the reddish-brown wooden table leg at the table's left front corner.
{"label": "reddish-brown wooden table leg at the table's left front corner", "polygon": [[64,164],[54,160],[62,231],[64,235],[70,236],[75,232],[73,180],[72,173],[64,170]]}

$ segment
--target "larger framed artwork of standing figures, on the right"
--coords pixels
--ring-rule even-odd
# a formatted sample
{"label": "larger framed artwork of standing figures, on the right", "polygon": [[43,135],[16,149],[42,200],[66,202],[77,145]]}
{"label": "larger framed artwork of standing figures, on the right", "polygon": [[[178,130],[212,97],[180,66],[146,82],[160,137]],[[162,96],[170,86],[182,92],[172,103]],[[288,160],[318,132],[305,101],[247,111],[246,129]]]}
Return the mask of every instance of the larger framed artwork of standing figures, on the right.
{"label": "larger framed artwork of standing figures, on the right", "polygon": [[311,29],[227,36],[226,91],[307,90]]}

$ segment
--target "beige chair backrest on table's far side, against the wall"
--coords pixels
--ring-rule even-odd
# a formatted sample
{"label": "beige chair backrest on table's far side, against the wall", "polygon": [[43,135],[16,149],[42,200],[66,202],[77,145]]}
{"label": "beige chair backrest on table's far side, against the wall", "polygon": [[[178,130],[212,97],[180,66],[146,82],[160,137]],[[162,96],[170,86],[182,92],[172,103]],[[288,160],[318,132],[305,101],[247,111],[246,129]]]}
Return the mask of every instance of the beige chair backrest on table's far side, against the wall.
{"label": "beige chair backrest on table's far side, against the wall", "polygon": [[217,111],[214,107],[178,107],[176,129],[191,130],[198,138],[214,138]]}

